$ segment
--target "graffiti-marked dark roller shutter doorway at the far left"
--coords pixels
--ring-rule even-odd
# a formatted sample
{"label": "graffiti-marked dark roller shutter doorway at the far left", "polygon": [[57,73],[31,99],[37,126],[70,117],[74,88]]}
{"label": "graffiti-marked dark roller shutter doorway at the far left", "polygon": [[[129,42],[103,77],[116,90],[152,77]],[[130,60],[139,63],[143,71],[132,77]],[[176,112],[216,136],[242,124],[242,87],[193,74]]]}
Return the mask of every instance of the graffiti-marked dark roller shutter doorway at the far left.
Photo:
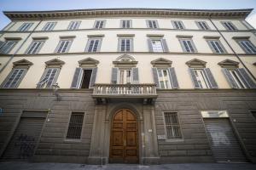
{"label": "graffiti-marked dark roller shutter doorway at the far left", "polygon": [[46,112],[24,112],[15,133],[3,153],[6,161],[28,161],[40,138]]}

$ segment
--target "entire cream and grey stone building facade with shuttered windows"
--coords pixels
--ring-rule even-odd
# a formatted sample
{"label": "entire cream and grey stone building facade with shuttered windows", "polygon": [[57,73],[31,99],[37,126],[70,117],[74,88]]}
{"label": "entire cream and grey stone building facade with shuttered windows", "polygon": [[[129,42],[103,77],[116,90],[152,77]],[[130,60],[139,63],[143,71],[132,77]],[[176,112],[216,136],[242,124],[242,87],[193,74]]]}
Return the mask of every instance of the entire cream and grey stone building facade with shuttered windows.
{"label": "entire cream and grey stone building facade with shuttered windows", "polygon": [[4,12],[1,160],[256,162],[251,11]]}

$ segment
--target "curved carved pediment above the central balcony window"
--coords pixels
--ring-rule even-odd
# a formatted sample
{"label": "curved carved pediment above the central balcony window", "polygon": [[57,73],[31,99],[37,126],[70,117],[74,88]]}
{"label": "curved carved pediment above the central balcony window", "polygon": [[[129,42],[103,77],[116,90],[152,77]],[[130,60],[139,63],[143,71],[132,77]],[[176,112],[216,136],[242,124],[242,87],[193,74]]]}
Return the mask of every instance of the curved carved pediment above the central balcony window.
{"label": "curved carved pediment above the central balcony window", "polygon": [[128,54],[123,54],[113,61],[116,67],[136,67],[137,61]]}

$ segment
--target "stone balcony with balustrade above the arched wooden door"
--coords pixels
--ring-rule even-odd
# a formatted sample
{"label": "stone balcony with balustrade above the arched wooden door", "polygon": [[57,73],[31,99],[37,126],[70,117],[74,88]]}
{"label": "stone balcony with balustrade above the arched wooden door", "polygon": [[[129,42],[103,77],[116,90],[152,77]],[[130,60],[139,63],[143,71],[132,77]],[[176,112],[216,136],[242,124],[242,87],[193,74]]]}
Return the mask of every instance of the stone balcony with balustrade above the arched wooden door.
{"label": "stone balcony with balustrade above the arched wooden door", "polygon": [[92,98],[97,104],[116,99],[139,99],[144,105],[152,105],[157,94],[155,84],[95,84]]}

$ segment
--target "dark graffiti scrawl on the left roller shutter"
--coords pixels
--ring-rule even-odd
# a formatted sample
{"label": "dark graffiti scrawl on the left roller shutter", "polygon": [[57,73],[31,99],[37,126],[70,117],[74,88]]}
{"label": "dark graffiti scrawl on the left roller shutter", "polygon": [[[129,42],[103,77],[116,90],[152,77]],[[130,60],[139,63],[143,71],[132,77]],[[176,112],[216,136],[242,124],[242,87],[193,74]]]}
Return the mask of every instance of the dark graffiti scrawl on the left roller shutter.
{"label": "dark graffiti scrawl on the left roller shutter", "polygon": [[20,134],[17,137],[15,142],[15,147],[19,147],[19,156],[20,158],[27,158],[33,155],[33,151],[35,149],[35,139],[32,136],[28,136],[27,134]]}

